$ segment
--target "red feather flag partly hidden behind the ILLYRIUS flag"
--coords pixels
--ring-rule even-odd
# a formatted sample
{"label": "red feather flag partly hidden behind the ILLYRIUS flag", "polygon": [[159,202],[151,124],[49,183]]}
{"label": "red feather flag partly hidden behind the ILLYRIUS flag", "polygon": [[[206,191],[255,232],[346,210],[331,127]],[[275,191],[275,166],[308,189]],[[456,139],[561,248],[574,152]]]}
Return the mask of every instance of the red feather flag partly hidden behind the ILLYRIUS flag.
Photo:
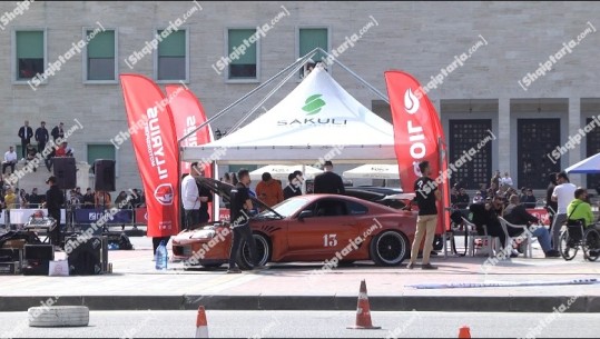
{"label": "red feather flag partly hidden behind the ILLYRIUS flag", "polygon": [[[175,131],[179,140],[203,124],[206,121],[206,113],[198,98],[189,89],[176,84],[167,84],[165,89],[167,90],[167,98],[175,122]],[[184,139],[181,146],[198,146],[210,141],[213,141],[213,133],[208,124],[206,124]],[[204,164],[205,177],[213,178],[213,170],[207,160],[209,159],[204,161],[199,159],[199,162]],[[181,161],[181,173],[189,173],[189,164],[190,162]]]}

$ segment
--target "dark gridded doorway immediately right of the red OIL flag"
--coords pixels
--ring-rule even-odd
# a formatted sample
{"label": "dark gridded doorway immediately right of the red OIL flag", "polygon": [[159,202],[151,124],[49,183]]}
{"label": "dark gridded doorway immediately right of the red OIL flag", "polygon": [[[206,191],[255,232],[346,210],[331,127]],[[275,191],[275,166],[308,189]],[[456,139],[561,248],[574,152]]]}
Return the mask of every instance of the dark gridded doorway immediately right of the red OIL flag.
{"label": "dark gridded doorway immediately right of the red OIL flag", "polygon": [[[478,143],[490,136],[490,130],[491,119],[449,120],[449,164],[456,163],[456,160],[463,157],[463,151],[476,149]],[[458,172],[452,173],[450,179],[451,186],[459,183],[465,189],[479,189],[481,183],[488,186],[492,178],[492,142],[478,150],[472,157],[473,160],[458,167]]]}

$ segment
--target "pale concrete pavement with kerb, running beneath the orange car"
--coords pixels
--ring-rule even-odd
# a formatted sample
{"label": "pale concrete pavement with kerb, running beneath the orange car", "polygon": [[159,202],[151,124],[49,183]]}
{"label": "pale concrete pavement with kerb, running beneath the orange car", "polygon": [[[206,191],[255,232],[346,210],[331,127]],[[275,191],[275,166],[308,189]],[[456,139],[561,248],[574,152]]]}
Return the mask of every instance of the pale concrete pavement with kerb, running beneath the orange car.
{"label": "pale concrete pavement with kerb, running beneath the orange car", "polygon": [[[85,277],[1,276],[0,310],[23,311],[55,298],[56,305],[90,310],[353,310],[362,279],[372,310],[550,312],[574,299],[568,311],[600,312],[600,285],[415,289],[417,283],[564,281],[600,278],[600,262],[581,253],[573,261],[515,258],[482,269],[484,257],[433,257],[436,271],[381,268],[358,262],[325,273],[321,263],[277,263],[264,271],[226,275],[219,269],[183,270],[169,262],[156,271],[147,238],[132,238],[136,250],[110,251],[112,273]],[[169,246],[170,247],[170,246]],[[57,259],[65,253],[57,252]],[[417,261],[419,262],[419,261]],[[57,298],[58,297],[58,298]]]}

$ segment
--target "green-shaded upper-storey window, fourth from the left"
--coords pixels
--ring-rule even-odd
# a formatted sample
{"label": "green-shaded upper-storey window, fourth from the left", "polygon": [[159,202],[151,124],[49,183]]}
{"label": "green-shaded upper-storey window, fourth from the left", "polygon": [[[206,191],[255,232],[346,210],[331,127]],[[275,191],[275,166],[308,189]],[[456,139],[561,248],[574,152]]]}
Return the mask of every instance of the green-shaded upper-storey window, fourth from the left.
{"label": "green-shaded upper-storey window, fourth from the left", "polygon": [[[228,79],[258,79],[258,40],[256,29],[229,29],[227,33],[227,56],[229,62]],[[240,46],[244,46],[240,49]],[[246,50],[244,51],[244,48]],[[244,52],[242,52],[244,51]]]}

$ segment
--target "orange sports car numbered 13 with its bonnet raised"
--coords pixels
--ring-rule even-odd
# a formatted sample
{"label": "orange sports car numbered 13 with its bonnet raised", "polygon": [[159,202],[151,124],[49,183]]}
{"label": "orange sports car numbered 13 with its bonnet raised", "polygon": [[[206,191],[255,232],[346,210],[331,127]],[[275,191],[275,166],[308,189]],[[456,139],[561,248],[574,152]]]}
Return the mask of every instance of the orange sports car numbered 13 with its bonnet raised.
{"label": "orange sports car numbered 13 with its bonnet raised", "polygon": [[[228,200],[232,186],[214,179],[199,185]],[[399,266],[410,257],[416,212],[338,195],[305,195],[273,208],[257,199],[260,213],[250,219],[259,265],[267,262],[373,260],[378,266]],[[229,258],[230,225],[210,222],[184,230],[173,239],[175,259],[185,267],[219,267]],[[237,265],[252,269],[249,248],[240,246]]]}

